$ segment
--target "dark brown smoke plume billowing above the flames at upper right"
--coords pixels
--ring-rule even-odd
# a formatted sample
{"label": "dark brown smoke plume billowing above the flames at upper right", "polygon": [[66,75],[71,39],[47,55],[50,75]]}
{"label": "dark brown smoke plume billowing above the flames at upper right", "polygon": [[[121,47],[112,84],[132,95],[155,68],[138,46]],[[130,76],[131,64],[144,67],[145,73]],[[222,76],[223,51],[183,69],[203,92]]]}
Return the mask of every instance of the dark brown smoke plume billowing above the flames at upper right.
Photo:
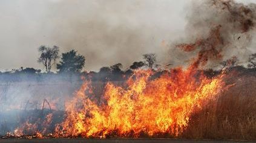
{"label": "dark brown smoke plume billowing above the flames at upper right", "polygon": [[[186,37],[180,40],[182,44],[174,43],[178,49],[171,54],[178,53],[186,60],[194,57],[194,67],[214,68],[233,56],[243,64],[249,54],[256,51],[252,41],[255,37],[255,4],[245,5],[231,0],[192,1],[188,9]],[[176,59],[175,62],[183,61]]]}

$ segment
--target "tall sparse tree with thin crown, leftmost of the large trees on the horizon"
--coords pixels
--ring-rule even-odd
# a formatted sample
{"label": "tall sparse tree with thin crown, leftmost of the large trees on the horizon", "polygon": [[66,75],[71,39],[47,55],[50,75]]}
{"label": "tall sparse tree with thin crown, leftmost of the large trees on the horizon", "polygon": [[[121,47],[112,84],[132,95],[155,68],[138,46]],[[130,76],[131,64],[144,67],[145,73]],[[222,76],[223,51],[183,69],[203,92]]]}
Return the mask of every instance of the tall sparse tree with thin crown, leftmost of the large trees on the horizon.
{"label": "tall sparse tree with thin crown, leftmost of the large trees on the horizon", "polygon": [[45,66],[46,72],[51,71],[51,67],[56,63],[56,60],[59,59],[59,47],[53,46],[53,48],[47,46],[40,46],[38,48],[40,56],[38,62],[42,63]]}

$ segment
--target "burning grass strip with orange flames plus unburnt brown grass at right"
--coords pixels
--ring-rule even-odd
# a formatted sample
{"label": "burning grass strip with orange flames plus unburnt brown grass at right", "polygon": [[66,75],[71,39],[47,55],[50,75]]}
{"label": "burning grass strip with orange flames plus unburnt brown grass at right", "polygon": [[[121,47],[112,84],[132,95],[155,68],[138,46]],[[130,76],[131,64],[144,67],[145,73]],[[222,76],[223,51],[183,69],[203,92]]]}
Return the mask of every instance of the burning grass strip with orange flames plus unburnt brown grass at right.
{"label": "burning grass strip with orange flames plus unburnt brown grass at right", "polygon": [[232,75],[140,71],[100,99],[86,80],[65,112],[31,112],[4,138],[256,139],[256,77]]}

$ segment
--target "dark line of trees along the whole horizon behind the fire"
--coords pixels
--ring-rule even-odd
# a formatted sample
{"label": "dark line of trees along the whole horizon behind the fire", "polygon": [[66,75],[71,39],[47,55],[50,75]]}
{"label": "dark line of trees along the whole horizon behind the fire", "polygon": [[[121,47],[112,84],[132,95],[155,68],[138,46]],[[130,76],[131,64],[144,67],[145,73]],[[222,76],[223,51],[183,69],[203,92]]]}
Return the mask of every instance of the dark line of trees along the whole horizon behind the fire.
{"label": "dark line of trees along the whole horizon behind the fire", "polygon": [[[39,46],[38,48],[39,57],[38,63],[42,64],[45,68],[45,72],[42,72],[41,69],[34,69],[34,68],[23,68],[20,69],[13,69],[12,71],[6,72],[7,74],[10,73],[25,73],[25,74],[50,74],[53,73],[51,70],[53,67],[56,67],[58,74],[93,74],[95,75],[96,72],[82,72],[82,69],[85,67],[85,57],[81,54],[77,53],[76,50],[71,49],[68,52],[63,52],[61,55],[59,54],[59,47],[58,46]],[[103,66],[99,69],[99,76],[102,78],[111,77],[113,74],[113,78],[122,77],[125,74],[131,74],[134,70],[140,68],[148,68],[148,69],[157,69],[159,65],[157,64],[156,54],[148,53],[143,54],[143,61],[133,62],[133,64],[125,71],[122,71],[123,65],[122,63],[116,63],[111,66]],[[59,61],[59,62],[57,62]],[[225,60],[220,63],[223,67],[234,67],[239,65],[239,61],[237,57],[232,57],[231,59]],[[256,53],[251,54],[248,59],[247,68],[256,68]]]}

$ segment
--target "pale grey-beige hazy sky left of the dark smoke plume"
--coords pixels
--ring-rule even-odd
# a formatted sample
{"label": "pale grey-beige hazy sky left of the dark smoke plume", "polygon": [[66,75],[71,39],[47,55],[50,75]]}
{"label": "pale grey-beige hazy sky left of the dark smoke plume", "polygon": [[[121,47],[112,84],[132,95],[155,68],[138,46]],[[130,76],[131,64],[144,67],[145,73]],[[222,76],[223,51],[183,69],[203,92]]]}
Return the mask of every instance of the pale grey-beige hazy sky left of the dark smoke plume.
{"label": "pale grey-beige hazy sky left of the dark smoke plume", "polygon": [[179,54],[170,53],[171,43],[186,34],[192,4],[192,0],[2,0],[0,69],[43,68],[37,63],[40,45],[57,45],[61,52],[76,49],[85,56],[85,69],[94,71],[115,63],[126,68],[149,52],[157,54],[159,63],[177,60]]}

